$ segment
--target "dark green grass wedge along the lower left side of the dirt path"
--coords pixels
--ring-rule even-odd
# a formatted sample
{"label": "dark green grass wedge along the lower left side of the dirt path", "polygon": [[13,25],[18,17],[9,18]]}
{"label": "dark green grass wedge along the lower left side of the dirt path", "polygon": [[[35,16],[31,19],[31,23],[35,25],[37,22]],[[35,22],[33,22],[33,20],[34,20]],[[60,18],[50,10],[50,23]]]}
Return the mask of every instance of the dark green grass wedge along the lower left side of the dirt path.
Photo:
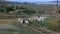
{"label": "dark green grass wedge along the lower left side of the dirt path", "polygon": [[18,25],[18,27],[20,28],[20,33],[21,34],[40,34],[40,33],[36,32],[36,31],[33,31],[32,29],[26,28],[26,27],[24,27],[22,25]]}

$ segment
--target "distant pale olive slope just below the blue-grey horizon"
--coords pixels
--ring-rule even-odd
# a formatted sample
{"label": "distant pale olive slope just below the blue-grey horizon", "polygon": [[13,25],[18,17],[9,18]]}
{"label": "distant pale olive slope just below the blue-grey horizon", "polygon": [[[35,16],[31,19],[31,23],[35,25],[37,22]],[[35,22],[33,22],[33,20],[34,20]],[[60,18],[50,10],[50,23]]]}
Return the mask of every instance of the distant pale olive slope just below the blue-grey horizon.
{"label": "distant pale olive slope just below the blue-grey horizon", "polygon": [[[9,5],[9,4],[8,4]],[[15,5],[15,4],[14,4]],[[55,5],[33,5],[33,4],[16,4],[17,7],[25,7],[27,9],[34,9],[37,11],[48,11],[48,9],[55,7]]]}

